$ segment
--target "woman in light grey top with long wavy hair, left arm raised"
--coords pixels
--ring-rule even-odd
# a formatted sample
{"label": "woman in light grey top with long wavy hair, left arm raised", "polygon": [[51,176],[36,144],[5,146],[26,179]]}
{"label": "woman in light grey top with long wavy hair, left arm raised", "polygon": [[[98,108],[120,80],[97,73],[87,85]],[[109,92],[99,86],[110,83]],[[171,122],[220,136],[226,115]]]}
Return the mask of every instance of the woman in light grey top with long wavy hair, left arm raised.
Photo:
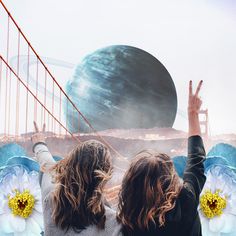
{"label": "woman in light grey top with long wavy hair, left arm raised", "polygon": [[82,142],[56,163],[36,123],[35,129],[32,141],[42,170],[44,235],[117,235],[116,214],[103,197],[112,173],[108,148],[96,140]]}

